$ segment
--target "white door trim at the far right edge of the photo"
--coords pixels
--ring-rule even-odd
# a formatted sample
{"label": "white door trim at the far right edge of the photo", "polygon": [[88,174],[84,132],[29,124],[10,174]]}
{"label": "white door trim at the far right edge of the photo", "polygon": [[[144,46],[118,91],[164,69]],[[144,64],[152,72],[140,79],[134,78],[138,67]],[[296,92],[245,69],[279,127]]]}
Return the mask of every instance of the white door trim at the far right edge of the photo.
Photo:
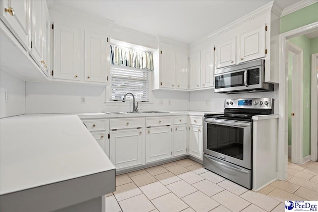
{"label": "white door trim at the far right edge of the photo", "polygon": [[[317,128],[318,128],[318,92],[317,92],[317,74],[318,74],[318,53],[312,54],[312,96],[311,96],[311,160],[317,161],[318,160],[318,135],[317,135]],[[313,101],[316,99],[316,101]]]}

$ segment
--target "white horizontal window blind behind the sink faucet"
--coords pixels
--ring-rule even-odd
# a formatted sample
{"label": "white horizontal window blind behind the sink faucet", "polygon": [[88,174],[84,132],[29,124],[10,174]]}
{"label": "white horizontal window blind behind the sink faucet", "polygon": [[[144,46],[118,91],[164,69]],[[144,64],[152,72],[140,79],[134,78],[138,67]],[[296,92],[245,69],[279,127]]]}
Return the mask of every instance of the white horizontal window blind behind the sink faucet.
{"label": "white horizontal window blind behind the sink faucet", "polygon": [[[135,96],[136,101],[149,101],[149,73],[147,69],[136,69],[113,65],[110,68],[110,100],[121,101],[127,92]],[[132,101],[128,95],[126,101]]]}

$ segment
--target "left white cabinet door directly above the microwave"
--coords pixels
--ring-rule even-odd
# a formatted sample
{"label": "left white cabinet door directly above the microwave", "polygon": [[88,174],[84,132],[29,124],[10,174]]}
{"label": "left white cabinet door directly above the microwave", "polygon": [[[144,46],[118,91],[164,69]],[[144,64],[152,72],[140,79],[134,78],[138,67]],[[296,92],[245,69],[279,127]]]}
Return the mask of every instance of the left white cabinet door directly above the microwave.
{"label": "left white cabinet door directly above the microwave", "polygon": [[236,38],[230,41],[218,44],[216,46],[217,52],[217,69],[235,65],[236,56]]}

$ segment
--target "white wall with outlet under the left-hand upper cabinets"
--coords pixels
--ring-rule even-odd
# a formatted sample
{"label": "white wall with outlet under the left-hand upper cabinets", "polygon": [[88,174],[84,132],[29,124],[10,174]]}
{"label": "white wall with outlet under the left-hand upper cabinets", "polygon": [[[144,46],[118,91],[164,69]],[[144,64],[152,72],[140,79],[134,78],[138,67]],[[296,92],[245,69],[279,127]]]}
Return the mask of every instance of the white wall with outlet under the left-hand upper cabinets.
{"label": "white wall with outlet under the left-hand upper cabinets", "polygon": [[[5,91],[9,100],[5,102]],[[15,76],[0,71],[0,118],[25,113],[25,82]]]}

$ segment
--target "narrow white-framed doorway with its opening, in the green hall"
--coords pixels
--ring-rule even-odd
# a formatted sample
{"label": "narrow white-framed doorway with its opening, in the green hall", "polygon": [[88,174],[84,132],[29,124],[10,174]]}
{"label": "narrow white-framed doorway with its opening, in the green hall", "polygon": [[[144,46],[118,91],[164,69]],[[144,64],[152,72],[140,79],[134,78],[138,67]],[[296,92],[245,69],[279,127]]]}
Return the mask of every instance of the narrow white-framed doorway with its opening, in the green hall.
{"label": "narrow white-framed doorway with its opening, in the green hall", "polygon": [[286,43],[288,49],[288,157],[303,164],[303,49]]}

